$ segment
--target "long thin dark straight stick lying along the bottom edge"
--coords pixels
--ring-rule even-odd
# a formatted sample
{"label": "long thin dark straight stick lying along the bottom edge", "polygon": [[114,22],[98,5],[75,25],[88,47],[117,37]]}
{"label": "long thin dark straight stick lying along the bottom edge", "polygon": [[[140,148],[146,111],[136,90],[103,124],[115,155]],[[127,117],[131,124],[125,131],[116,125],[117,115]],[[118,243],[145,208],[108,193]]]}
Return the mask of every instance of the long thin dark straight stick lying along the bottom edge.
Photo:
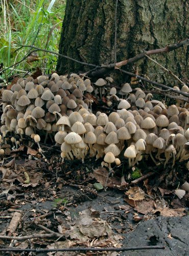
{"label": "long thin dark straight stick lying along the bottom edge", "polygon": [[0,248],[0,251],[17,251],[17,252],[50,252],[50,251],[131,251],[131,250],[150,250],[165,249],[165,246],[140,246],[140,247],[123,247],[123,248],[93,248],[93,247],[76,247],[63,249],[17,249],[17,248]]}

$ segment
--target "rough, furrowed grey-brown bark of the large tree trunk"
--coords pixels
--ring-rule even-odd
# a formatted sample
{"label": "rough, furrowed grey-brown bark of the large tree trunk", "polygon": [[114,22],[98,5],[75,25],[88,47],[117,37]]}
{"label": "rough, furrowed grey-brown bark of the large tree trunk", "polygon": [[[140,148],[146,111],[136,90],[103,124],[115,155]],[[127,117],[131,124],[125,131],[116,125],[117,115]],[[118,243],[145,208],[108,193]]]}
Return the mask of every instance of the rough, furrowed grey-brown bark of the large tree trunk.
{"label": "rough, furrowed grey-brown bark of the large tree trunk", "polygon": [[[144,50],[162,48],[187,38],[188,4],[184,0],[119,0],[117,5],[117,61]],[[115,0],[67,0],[59,52],[95,65],[114,62]],[[188,47],[152,56],[181,79],[188,77]],[[147,59],[135,66],[159,82],[174,81]],[[57,71],[90,68],[59,57]],[[133,71],[132,67],[126,67]]]}

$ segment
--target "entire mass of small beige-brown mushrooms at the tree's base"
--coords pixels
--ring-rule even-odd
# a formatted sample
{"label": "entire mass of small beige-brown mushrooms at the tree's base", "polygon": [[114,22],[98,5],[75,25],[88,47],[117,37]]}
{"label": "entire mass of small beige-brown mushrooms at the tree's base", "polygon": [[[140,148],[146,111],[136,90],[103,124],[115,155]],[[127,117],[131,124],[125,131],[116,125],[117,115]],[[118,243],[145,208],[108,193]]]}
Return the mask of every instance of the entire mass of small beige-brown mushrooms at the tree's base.
{"label": "entire mass of small beige-brown mushrooms at the tree's base", "polygon": [[[97,80],[95,86],[100,90],[95,89],[95,93],[104,93],[101,89],[106,80]],[[118,93],[121,98],[115,88],[106,88],[107,104],[115,109],[107,115],[92,113],[91,101],[83,100],[85,91],[93,91],[90,80],[76,74],[67,78],[54,73],[50,80],[46,76],[19,79],[11,91],[3,91],[3,137],[7,132],[35,137],[41,152],[36,134],[45,130],[45,140],[53,134],[56,144],[61,145],[62,161],[77,158],[84,162],[89,154],[104,158],[102,166],[110,170],[112,163],[120,165],[122,151],[129,167],[143,158],[151,158],[156,165],[163,163],[164,167],[170,161],[174,166],[176,160],[188,159],[189,112],[184,102],[168,107],[140,88],[133,93],[130,84],[125,83]]]}

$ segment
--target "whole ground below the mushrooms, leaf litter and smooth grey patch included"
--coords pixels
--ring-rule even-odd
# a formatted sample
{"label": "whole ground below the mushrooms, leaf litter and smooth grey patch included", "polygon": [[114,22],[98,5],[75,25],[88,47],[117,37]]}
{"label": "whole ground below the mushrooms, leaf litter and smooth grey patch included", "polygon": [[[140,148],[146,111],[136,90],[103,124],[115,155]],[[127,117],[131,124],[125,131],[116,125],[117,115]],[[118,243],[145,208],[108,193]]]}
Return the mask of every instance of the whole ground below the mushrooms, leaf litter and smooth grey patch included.
{"label": "whole ground below the mushrooms, leaf litter and smooth grey patch included", "polygon": [[[7,146],[8,148],[8,146]],[[150,255],[188,255],[188,193],[180,200],[174,188],[188,179],[184,165],[143,168],[149,178],[132,183],[121,178],[127,162],[114,175],[101,161],[61,164],[59,147],[44,147],[45,162],[28,146],[9,151],[0,164],[0,248],[165,246]],[[28,160],[28,154],[34,158]],[[143,163],[144,164],[144,163]],[[140,167],[140,166],[139,166]],[[27,175],[28,174],[28,175]],[[29,177],[28,177],[29,176]],[[128,177],[128,176],[127,176]],[[94,183],[106,189],[97,191]],[[49,234],[49,237],[46,237]],[[17,239],[6,239],[6,236]],[[25,237],[26,238],[21,238]],[[33,236],[30,237],[30,236]],[[19,238],[20,237],[20,240]],[[146,255],[122,252],[30,252],[29,255]],[[1,252],[0,252],[1,254]],[[2,252],[1,255],[5,255]],[[10,255],[10,254],[6,254]],[[11,255],[28,255],[12,252]]]}

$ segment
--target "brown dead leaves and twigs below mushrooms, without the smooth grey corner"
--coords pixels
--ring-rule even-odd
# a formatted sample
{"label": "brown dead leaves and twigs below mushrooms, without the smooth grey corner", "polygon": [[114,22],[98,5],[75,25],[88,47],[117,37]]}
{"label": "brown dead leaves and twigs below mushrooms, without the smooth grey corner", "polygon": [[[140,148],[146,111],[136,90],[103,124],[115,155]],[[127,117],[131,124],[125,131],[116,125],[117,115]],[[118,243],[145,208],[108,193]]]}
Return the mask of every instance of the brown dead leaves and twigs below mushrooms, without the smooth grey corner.
{"label": "brown dead leaves and twigs below mushrooms, without the smooth grey corner", "polygon": [[[1,234],[38,235],[30,239],[30,243],[17,241],[17,248],[28,248],[30,244],[34,248],[121,247],[123,234],[143,221],[156,216],[186,215],[188,192],[178,199],[174,194],[177,187],[173,184],[168,187],[161,183],[154,193],[149,178],[136,186],[116,170],[114,176],[110,175],[106,168],[99,167],[99,161],[88,160],[85,167],[78,161],[66,161],[62,168],[59,158],[52,153],[48,162],[44,162],[29,146],[9,151],[10,158],[4,159],[0,166],[1,216],[10,216]],[[24,154],[33,159],[25,160]],[[102,189],[97,191],[95,183]],[[93,204],[95,200],[98,204]],[[128,218],[130,221],[125,224]],[[49,232],[52,237],[45,238]],[[5,240],[1,243],[8,246]],[[48,255],[76,254],[50,252]]]}

